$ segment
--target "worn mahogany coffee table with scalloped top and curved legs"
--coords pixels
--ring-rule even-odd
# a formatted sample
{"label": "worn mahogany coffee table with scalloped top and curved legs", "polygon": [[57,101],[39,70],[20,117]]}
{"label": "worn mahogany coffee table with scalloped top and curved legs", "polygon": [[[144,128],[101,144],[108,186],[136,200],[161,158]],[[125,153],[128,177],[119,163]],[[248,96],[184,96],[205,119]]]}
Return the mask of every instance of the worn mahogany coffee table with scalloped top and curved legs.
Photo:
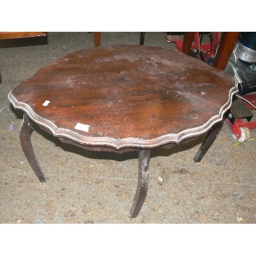
{"label": "worn mahogany coffee table with scalloped top and curved legs", "polygon": [[151,149],[209,131],[194,158],[199,162],[219,134],[236,92],[229,74],[181,52],[111,46],[56,59],[20,82],[8,98],[24,112],[20,142],[40,182],[46,178],[30,142],[33,123],[86,150],[139,151],[134,218],[146,196]]}

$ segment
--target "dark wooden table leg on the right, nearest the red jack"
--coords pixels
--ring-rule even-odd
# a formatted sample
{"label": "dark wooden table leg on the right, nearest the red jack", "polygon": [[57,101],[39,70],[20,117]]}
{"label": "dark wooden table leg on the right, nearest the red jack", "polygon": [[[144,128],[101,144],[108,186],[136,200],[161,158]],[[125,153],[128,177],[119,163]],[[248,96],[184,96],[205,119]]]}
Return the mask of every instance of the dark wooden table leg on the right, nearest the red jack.
{"label": "dark wooden table leg on the right, nearest the red jack", "polygon": [[195,162],[200,162],[212,143],[214,143],[215,139],[217,138],[218,134],[221,131],[223,125],[223,121],[216,123],[214,126],[211,127],[211,130],[206,135],[202,145],[200,146],[196,156],[194,157]]}

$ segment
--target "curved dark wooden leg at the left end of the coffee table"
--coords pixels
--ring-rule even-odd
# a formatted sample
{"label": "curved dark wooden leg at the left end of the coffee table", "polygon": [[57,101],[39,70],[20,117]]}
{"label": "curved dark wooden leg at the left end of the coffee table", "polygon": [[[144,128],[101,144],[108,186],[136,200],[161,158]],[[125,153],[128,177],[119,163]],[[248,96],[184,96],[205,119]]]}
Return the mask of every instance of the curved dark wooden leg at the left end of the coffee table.
{"label": "curved dark wooden leg at the left end of the coffee table", "polygon": [[27,157],[32,169],[34,170],[35,175],[37,176],[40,182],[45,182],[46,177],[42,172],[41,167],[36,159],[36,155],[34,153],[34,150],[30,141],[31,127],[32,127],[32,122],[29,119],[29,117],[24,113],[22,126],[20,127],[20,131],[19,131],[20,144],[22,144],[22,149],[24,151],[24,154]]}

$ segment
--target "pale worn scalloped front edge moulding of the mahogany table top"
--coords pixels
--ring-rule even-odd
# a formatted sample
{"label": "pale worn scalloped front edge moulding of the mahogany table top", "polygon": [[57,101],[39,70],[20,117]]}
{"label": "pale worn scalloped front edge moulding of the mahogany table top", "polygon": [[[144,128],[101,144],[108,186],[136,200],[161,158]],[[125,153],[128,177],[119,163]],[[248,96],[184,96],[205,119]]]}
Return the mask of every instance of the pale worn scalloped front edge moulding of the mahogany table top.
{"label": "pale worn scalloped front edge moulding of the mahogany table top", "polygon": [[110,146],[116,150],[126,147],[138,147],[138,148],[154,148],[159,147],[167,143],[180,143],[182,140],[196,137],[206,133],[210,128],[220,122],[223,119],[223,115],[230,108],[232,103],[232,96],[238,92],[237,87],[233,87],[229,91],[228,101],[221,107],[219,115],[211,117],[206,123],[201,126],[193,127],[191,129],[184,130],[178,134],[165,134],[155,139],[140,139],[140,138],[124,138],[115,139],[111,137],[90,137],[78,134],[74,131],[57,127],[53,122],[37,115],[31,107],[23,102],[18,102],[16,98],[9,92],[8,99],[12,103],[15,109],[22,110],[31,118],[31,120],[42,127],[49,130],[53,136],[60,138],[67,138],[73,140],[82,145],[88,146]]}

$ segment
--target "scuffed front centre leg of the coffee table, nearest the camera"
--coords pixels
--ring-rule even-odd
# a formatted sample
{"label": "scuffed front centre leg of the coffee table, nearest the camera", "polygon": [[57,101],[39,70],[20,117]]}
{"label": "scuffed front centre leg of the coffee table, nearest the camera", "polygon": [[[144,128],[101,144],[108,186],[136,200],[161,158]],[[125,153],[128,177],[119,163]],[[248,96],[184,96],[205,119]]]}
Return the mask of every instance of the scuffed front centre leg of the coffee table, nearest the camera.
{"label": "scuffed front centre leg of the coffee table, nearest the camera", "polygon": [[144,203],[148,184],[148,166],[150,164],[150,150],[139,151],[139,180],[136,194],[131,208],[131,217],[136,218]]}

